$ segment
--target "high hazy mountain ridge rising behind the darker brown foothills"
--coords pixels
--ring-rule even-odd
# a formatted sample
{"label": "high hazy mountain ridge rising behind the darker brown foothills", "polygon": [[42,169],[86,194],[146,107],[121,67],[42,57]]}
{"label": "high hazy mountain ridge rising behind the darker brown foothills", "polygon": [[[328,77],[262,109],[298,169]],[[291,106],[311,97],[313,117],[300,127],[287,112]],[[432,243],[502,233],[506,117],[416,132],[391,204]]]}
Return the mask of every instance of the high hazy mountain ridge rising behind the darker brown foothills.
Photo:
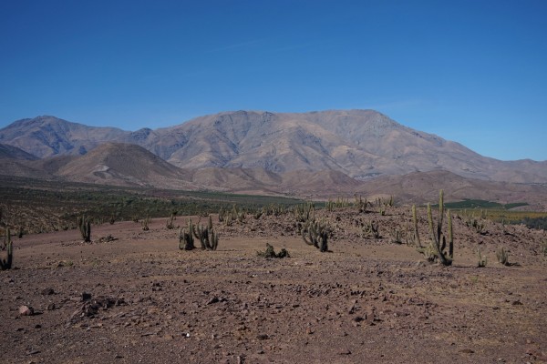
{"label": "high hazy mountain ridge rising behind the darker brown foothills", "polygon": [[52,116],[0,130],[0,142],[38,157],[85,154],[106,141],[139,145],[181,168],[335,171],[357,180],[448,170],[458,176],[546,183],[547,162],[502,162],[402,126],[373,110],[302,114],[225,112],[178,126],[135,132]]}

